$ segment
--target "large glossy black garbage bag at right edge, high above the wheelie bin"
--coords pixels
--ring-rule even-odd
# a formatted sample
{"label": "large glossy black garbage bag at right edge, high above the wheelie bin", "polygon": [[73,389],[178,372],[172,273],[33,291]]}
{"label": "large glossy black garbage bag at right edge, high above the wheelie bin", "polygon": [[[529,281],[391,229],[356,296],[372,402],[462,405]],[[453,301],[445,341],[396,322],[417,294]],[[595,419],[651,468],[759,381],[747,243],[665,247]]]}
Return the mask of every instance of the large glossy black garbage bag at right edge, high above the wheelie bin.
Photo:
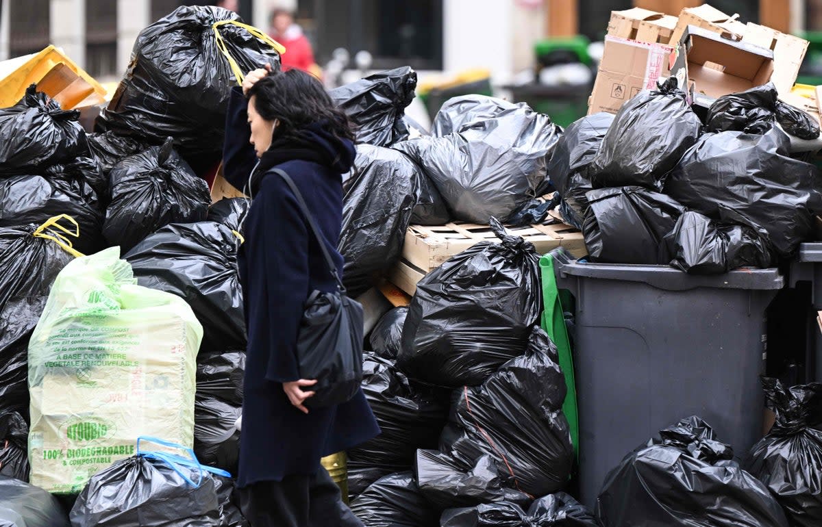
{"label": "large glossy black garbage bag at right edge, high above the wheelie bin", "polygon": [[665,193],[720,222],[736,213],[767,231],[778,255],[790,257],[822,211],[822,176],[788,157],[789,144],[778,128],[705,134],[667,177]]}

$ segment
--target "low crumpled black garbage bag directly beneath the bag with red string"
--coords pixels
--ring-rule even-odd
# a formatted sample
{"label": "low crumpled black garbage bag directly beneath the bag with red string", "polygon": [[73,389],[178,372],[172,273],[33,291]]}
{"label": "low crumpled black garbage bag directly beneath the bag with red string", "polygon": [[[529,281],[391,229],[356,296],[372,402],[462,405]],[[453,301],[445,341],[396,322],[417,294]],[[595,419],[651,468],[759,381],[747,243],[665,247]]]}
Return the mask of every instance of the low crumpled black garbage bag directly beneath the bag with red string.
{"label": "low crumpled black garbage bag directly beneath the bag with red string", "polygon": [[418,450],[414,475],[419,492],[439,510],[491,502],[528,505],[531,497],[504,485],[492,456],[480,456],[469,470],[448,454]]}

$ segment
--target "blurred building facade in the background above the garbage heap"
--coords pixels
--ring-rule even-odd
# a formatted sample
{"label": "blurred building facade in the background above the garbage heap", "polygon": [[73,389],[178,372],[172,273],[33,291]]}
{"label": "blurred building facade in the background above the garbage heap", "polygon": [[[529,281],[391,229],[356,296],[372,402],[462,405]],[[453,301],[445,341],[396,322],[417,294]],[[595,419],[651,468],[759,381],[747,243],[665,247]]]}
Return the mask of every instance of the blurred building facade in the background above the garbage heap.
{"label": "blurred building facade in the background above the garbage heap", "polygon": [[[0,0],[0,59],[62,47],[92,76],[122,76],[134,39],[146,25],[192,0]],[[533,66],[533,44],[545,37],[551,9],[575,6],[576,30],[601,39],[611,11],[637,0],[242,0],[244,18],[267,30],[270,11],[292,9],[324,65],[336,48],[372,54],[373,69],[491,71],[497,85]],[[758,21],[760,3],[711,0],[714,7]],[[807,30],[822,30],[822,0],[790,0]],[[353,67],[353,65],[352,65]]]}

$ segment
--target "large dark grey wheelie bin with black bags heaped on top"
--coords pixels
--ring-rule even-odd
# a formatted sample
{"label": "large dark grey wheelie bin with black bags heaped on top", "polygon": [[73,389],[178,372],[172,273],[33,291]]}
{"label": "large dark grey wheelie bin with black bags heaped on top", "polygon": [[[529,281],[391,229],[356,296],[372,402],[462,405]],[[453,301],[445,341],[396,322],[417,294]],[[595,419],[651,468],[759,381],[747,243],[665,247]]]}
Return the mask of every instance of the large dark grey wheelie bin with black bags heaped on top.
{"label": "large dark grey wheelie bin with black bags heaped on top", "polygon": [[658,430],[700,415],[738,456],[761,437],[764,312],[777,269],[697,276],[662,265],[588,264],[556,250],[575,297],[580,498]]}

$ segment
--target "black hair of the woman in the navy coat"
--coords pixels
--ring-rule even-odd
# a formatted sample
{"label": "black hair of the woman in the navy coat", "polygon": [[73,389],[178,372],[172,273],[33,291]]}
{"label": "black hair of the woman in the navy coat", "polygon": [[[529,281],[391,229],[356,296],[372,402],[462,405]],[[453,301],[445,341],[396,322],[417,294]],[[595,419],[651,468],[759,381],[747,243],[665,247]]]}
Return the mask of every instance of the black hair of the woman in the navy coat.
{"label": "black hair of the woman in the navy coat", "polygon": [[275,71],[248,90],[254,108],[266,121],[279,120],[274,139],[288,139],[312,123],[324,121],[339,139],[354,140],[349,117],[337,108],[316,77],[305,71]]}

